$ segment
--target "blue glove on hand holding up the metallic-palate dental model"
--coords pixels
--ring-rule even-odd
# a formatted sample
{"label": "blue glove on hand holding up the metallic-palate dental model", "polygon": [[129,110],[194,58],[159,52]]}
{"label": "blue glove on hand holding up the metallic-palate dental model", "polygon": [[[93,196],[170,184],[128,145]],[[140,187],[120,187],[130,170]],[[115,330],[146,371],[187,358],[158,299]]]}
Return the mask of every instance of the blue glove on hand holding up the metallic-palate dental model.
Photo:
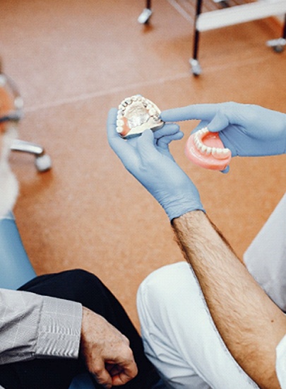
{"label": "blue glove on hand holding up the metallic-palate dental model", "polygon": [[125,168],[157,199],[170,220],[196,209],[203,210],[193,182],[169,153],[169,143],[184,136],[177,124],[167,124],[140,137],[122,139],[116,131],[117,109],[109,111],[107,137]]}

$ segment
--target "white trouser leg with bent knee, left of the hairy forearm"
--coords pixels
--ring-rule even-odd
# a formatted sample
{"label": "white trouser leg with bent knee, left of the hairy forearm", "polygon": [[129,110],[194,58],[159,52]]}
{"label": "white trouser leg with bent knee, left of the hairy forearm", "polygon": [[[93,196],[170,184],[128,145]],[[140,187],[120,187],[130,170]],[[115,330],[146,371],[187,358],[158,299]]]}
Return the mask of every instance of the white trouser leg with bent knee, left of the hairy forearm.
{"label": "white trouser leg with bent knee, left of the hairy forearm", "polygon": [[168,388],[258,388],[222,342],[186,262],[150,274],[137,303],[145,352]]}

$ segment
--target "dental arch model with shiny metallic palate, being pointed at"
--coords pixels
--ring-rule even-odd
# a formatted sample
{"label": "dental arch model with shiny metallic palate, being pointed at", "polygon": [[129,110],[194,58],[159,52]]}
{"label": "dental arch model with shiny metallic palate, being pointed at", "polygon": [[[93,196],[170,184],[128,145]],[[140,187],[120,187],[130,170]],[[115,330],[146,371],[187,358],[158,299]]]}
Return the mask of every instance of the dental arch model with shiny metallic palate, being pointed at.
{"label": "dental arch model with shiny metallic palate, being pointed at", "polygon": [[129,138],[142,134],[145,129],[160,129],[164,124],[160,113],[157,105],[141,95],[125,98],[117,112],[117,132]]}

